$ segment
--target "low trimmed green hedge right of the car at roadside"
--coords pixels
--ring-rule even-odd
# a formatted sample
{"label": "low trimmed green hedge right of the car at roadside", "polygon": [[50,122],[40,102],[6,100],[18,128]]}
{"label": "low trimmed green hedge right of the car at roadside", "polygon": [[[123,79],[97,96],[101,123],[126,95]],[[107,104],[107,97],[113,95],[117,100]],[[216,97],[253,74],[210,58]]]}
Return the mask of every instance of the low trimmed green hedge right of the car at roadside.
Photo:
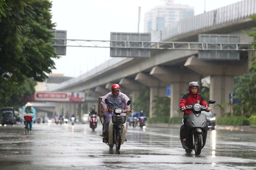
{"label": "low trimmed green hedge right of the car at roadside", "polygon": [[216,120],[217,125],[249,125],[249,118],[244,116],[234,117],[218,117]]}

